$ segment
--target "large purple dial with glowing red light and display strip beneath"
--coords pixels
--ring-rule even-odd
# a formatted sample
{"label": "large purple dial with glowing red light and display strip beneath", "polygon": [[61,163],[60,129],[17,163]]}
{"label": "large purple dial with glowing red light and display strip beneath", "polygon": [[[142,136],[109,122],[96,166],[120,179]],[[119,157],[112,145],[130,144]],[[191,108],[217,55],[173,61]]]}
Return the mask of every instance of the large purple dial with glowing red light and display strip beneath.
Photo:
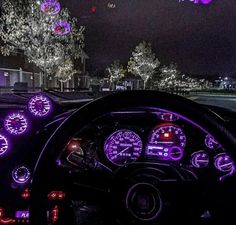
{"label": "large purple dial with glowing red light and display strip beneath", "polygon": [[185,146],[186,136],[183,130],[175,124],[165,123],[152,131],[146,154],[164,160],[179,161],[183,157]]}

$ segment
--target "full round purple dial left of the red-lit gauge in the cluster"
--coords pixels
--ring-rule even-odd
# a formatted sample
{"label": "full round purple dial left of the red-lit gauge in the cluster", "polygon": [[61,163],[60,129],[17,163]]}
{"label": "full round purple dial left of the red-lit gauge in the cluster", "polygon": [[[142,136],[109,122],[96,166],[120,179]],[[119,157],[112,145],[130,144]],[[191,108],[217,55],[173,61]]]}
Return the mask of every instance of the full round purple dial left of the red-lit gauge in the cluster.
{"label": "full round purple dial left of the red-lit gauge in the cluster", "polygon": [[142,153],[142,140],[131,130],[118,130],[105,141],[107,159],[117,166],[136,161]]}

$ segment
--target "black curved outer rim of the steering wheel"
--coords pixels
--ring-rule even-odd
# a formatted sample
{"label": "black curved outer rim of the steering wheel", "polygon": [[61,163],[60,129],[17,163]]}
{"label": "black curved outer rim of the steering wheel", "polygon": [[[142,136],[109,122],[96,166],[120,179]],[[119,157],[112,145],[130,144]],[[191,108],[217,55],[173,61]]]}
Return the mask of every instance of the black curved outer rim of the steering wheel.
{"label": "black curved outer rim of the steering wheel", "polygon": [[[231,157],[236,160],[236,152],[232,151],[236,147],[236,138],[227,129],[224,121],[205,107],[183,97],[157,91],[127,91],[111,94],[76,110],[60,125],[46,143],[36,164],[32,180],[31,224],[47,224],[45,214],[42,212],[45,196],[42,196],[40,188],[42,187],[42,181],[45,179],[45,173],[43,172],[45,171],[45,162],[55,162],[58,156],[55,149],[61,150],[62,146],[65,146],[67,141],[78,131],[78,128],[83,128],[89,121],[107,112],[137,106],[169,110],[183,115],[201,127],[207,124],[207,132],[219,140]],[[77,124],[77,126],[71,127],[70,124]],[[63,139],[58,138],[62,136],[64,136]],[[50,165],[48,165],[48,169],[50,169]]]}

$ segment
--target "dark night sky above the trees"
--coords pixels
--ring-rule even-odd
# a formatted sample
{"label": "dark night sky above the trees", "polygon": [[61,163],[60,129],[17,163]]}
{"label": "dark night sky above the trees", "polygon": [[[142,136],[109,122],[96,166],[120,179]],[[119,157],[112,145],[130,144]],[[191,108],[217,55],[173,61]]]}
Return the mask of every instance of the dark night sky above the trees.
{"label": "dark night sky above the trees", "polygon": [[[162,64],[185,73],[236,76],[236,2],[209,6],[178,0],[60,0],[86,26],[89,70],[115,59],[126,63],[140,41],[150,41]],[[107,8],[108,2],[116,4]],[[96,13],[90,13],[92,6]]]}

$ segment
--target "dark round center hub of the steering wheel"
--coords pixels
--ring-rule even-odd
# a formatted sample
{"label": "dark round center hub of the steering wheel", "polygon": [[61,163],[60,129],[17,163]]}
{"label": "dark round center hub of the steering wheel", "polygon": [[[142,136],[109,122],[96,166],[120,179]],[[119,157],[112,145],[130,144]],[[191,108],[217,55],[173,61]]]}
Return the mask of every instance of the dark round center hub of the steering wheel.
{"label": "dark round center hub of the steering wheel", "polygon": [[152,184],[137,183],[127,193],[126,208],[138,220],[155,220],[162,211],[160,192]]}

